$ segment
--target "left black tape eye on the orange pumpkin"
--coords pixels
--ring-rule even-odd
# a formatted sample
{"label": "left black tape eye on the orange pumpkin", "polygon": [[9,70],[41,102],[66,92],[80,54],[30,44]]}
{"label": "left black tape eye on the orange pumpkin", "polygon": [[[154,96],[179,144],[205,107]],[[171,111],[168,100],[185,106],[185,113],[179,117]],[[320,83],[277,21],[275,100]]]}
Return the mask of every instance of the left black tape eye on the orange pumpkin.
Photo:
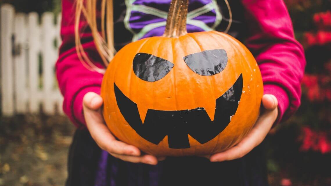
{"label": "left black tape eye on the orange pumpkin", "polygon": [[173,63],[152,54],[137,53],[133,59],[134,74],[148,82],[155,82],[165,77],[173,67]]}

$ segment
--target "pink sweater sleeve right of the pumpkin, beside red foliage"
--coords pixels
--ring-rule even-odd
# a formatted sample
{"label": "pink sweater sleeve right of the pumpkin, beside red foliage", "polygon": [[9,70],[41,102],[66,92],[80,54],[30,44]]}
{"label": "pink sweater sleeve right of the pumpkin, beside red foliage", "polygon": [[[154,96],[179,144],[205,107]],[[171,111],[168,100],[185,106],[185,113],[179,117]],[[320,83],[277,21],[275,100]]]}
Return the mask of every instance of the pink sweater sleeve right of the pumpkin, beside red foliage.
{"label": "pink sweater sleeve right of the pumpkin, beside red foliage", "polygon": [[306,65],[304,50],[294,38],[283,0],[243,0],[249,37],[246,46],[260,66],[264,93],[278,99],[276,123],[300,106],[300,81]]}

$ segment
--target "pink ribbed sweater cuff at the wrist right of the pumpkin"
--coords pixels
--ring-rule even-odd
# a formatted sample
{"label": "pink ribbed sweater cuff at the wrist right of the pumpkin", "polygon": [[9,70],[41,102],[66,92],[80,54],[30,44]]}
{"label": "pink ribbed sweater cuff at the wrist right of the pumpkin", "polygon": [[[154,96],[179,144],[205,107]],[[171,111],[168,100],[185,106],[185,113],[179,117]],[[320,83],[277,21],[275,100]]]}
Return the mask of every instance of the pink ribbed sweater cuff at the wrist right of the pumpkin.
{"label": "pink ribbed sweater cuff at the wrist right of the pumpkin", "polygon": [[283,115],[289,107],[290,100],[286,91],[278,85],[266,84],[263,86],[264,94],[272,94],[278,100],[278,117],[274,126],[282,121]]}

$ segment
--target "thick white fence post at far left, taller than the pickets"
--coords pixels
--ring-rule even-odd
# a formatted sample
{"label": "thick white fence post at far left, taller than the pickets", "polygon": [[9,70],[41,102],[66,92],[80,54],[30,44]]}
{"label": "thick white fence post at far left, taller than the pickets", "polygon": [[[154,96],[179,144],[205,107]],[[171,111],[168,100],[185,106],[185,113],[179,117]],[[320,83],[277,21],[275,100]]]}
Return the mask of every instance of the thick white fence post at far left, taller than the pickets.
{"label": "thick white fence post at far left, taller than the pickets", "polygon": [[2,113],[5,116],[14,114],[14,81],[12,36],[14,8],[5,4],[1,6],[1,94]]}

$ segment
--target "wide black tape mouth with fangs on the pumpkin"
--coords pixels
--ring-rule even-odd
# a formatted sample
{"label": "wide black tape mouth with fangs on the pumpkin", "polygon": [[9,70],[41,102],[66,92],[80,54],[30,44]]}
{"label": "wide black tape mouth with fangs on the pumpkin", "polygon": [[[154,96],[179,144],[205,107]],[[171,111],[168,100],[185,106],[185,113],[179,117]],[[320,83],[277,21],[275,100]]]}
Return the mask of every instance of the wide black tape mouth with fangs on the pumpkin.
{"label": "wide black tape mouth with fangs on the pumpkin", "polygon": [[118,108],[126,122],[145,140],[159,144],[168,136],[169,148],[190,148],[188,134],[200,144],[207,143],[221,133],[235,115],[243,90],[243,76],[216,99],[215,115],[212,121],[206,110],[198,107],[190,110],[148,109],[142,123],[137,104],[126,97],[114,83]]}

